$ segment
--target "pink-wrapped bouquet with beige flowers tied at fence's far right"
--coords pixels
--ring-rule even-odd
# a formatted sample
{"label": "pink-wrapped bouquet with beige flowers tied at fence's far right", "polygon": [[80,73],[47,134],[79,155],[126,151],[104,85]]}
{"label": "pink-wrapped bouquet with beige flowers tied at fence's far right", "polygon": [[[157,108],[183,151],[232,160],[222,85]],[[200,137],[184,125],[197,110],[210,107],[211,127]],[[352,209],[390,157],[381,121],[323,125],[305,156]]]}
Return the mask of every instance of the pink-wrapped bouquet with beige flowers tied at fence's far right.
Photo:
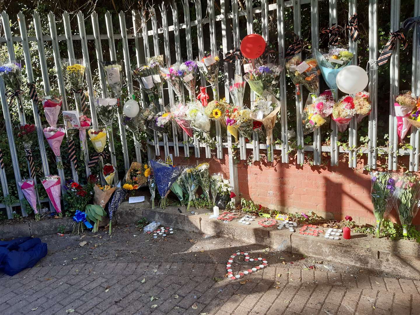
{"label": "pink-wrapped bouquet with beige flowers tied at fence's far right", "polygon": [[[395,98],[394,108],[397,121],[397,133],[400,141],[404,139],[405,135],[410,129],[408,117],[412,115],[412,110],[417,104],[417,98],[411,91],[402,91],[400,95]],[[415,111],[417,118],[419,117],[420,110]]]}

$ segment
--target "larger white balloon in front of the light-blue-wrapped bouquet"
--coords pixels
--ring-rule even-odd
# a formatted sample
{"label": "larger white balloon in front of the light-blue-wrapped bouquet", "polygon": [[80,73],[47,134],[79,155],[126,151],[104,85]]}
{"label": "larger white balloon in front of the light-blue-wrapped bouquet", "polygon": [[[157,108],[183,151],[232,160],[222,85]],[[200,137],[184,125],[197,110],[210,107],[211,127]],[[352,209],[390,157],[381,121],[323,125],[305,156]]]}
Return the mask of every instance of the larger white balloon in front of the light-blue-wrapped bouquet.
{"label": "larger white balloon in front of the light-blue-wrapped bouquet", "polygon": [[369,82],[366,71],[359,66],[347,66],[337,74],[337,87],[346,94],[363,91]]}

